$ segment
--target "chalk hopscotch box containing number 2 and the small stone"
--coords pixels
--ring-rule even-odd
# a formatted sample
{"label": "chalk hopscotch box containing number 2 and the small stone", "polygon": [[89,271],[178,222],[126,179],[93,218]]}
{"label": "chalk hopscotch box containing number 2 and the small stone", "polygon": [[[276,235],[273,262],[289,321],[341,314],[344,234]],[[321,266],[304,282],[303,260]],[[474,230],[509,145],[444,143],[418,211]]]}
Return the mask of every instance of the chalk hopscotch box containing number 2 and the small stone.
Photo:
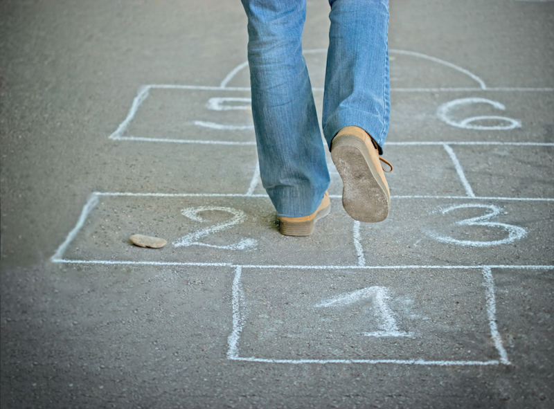
{"label": "chalk hopscotch box containing number 2 and the small stone", "polygon": [[[309,237],[289,237],[278,232],[276,212],[267,197],[97,194],[96,199],[60,259],[278,265],[351,265],[357,260],[352,220],[343,210],[318,221]],[[338,206],[333,199],[332,207]],[[129,242],[136,233],[166,239],[168,244],[136,247]]]}

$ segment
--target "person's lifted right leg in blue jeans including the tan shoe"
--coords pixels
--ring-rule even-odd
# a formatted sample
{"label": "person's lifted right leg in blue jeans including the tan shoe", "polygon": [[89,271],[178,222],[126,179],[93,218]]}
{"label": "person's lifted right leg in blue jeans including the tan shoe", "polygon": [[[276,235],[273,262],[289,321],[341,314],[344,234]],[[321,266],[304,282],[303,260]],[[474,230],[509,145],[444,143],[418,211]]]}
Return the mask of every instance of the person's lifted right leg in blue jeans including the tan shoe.
{"label": "person's lifted right leg in blue jeans including the tan shoe", "polygon": [[330,5],[323,133],[343,180],[346,212],[356,220],[382,221],[391,202],[379,161],[391,110],[388,0]]}

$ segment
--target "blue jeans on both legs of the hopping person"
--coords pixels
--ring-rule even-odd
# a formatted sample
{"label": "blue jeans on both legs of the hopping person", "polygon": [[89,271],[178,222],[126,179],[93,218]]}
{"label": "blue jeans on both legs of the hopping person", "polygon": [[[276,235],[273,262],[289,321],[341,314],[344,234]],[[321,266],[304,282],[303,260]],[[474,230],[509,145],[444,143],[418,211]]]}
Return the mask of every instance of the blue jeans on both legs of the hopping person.
{"label": "blue jeans on both legs of the hopping person", "polygon": [[[242,0],[260,176],[283,217],[316,211],[330,183],[302,55],[305,0]],[[388,0],[330,0],[323,134],[365,129],[382,152],[391,111]]]}

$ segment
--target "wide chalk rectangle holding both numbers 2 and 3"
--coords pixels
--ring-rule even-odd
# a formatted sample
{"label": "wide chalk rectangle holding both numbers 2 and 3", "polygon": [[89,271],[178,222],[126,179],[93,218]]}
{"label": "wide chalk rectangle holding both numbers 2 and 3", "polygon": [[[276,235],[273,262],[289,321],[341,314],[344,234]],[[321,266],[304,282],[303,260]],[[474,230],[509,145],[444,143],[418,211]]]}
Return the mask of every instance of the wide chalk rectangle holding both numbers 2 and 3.
{"label": "wide chalk rectangle holding both numbers 2 and 3", "polygon": [[[429,206],[429,201],[432,205]],[[396,266],[551,264],[544,201],[393,198],[378,224],[353,221],[339,197],[308,237],[278,232],[267,197],[217,194],[93,194],[56,260],[129,263]],[[135,233],[168,240],[153,250]],[[328,251],[328,249],[332,249]]]}

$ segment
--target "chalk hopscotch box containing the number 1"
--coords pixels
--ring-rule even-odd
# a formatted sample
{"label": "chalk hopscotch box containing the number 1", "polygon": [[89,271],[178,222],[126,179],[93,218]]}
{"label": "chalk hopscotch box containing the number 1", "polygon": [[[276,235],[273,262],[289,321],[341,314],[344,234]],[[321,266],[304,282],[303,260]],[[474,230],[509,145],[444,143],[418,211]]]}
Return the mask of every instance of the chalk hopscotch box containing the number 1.
{"label": "chalk hopscotch box containing the number 1", "polygon": [[479,269],[242,268],[233,284],[229,357],[499,363],[487,305],[494,294],[484,281]]}

